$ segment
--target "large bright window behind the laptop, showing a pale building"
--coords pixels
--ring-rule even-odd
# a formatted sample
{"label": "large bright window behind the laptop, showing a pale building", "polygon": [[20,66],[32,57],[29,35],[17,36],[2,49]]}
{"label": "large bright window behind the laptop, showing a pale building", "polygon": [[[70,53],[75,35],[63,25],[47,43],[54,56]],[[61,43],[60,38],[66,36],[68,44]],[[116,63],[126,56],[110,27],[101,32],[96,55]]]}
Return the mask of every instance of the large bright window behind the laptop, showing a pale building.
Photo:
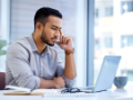
{"label": "large bright window behind the laptop, showing a pale building", "polygon": [[[133,1],[95,0],[95,10],[103,9],[94,27],[94,83],[104,56],[122,56],[116,76],[127,69],[129,81],[133,81]],[[123,14],[124,13],[124,14]]]}

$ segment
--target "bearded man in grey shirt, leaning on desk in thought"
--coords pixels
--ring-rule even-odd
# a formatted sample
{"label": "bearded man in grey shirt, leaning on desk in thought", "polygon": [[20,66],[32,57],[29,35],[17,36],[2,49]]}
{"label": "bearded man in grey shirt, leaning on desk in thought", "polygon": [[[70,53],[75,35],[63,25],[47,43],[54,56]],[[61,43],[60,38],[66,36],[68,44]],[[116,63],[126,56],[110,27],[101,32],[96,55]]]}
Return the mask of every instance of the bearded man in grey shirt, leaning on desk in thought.
{"label": "bearded man in grey shirt, leaning on desk in thought", "polygon": [[[61,31],[62,14],[52,8],[41,8],[34,16],[30,37],[12,43],[7,52],[7,86],[30,89],[72,87],[75,81],[72,39]],[[60,36],[60,41],[57,39]],[[65,66],[51,48],[57,43],[65,53]]]}

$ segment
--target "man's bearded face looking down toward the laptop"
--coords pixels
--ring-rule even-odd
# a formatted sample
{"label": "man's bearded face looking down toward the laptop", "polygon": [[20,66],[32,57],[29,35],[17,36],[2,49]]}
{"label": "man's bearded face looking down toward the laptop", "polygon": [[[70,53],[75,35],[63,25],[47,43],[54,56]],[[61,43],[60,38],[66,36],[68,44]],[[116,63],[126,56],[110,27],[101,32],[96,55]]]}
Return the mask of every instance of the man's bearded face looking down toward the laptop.
{"label": "man's bearded face looking down toward the laptop", "polygon": [[59,31],[61,30],[61,24],[62,21],[60,18],[49,16],[48,22],[45,23],[41,33],[41,40],[49,46],[54,46],[54,42],[60,33]]}

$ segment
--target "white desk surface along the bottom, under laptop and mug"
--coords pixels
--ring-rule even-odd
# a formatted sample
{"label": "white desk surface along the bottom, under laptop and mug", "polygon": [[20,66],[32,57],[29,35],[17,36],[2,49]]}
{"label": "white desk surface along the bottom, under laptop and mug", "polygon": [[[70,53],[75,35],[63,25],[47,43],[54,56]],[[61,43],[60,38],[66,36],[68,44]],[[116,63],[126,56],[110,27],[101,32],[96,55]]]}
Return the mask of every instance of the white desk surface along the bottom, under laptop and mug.
{"label": "white desk surface along the bottom, under laptop and mug", "polygon": [[133,82],[127,82],[124,89],[116,89],[114,86],[108,91],[89,93],[88,97],[58,97],[58,98],[44,98],[42,96],[3,96],[0,91],[0,100],[133,100]]}

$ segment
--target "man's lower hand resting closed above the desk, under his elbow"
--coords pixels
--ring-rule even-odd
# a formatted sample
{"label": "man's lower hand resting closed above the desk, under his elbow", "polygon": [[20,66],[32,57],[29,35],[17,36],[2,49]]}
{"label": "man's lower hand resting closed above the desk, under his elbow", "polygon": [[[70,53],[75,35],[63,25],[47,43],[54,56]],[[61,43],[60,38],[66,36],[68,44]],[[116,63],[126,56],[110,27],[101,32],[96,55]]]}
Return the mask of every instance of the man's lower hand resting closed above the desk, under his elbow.
{"label": "man's lower hand resting closed above the desk, under his elbow", "polygon": [[58,77],[58,78],[53,79],[53,81],[55,82],[55,89],[65,87],[65,82],[62,77]]}

